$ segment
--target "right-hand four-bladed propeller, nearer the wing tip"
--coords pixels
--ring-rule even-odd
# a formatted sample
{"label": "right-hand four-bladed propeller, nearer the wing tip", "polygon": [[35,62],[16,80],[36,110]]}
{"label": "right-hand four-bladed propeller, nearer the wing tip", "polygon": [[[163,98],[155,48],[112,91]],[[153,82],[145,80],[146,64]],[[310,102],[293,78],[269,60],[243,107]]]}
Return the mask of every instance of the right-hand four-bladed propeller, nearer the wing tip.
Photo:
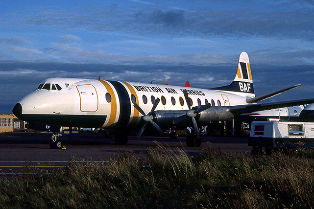
{"label": "right-hand four-bladed propeller, nearer the wing tip", "polygon": [[187,111],[185,115],[180,116],[180,117],[174,119],[173,120],[173,124],[177,124],[177,123],[186,121],[188,118],[191,118],[192,119],[192,123],[193,123],[195,136],[198,139],[199,138],[199,133],[198,133],[198,127],[197,127],[197,123],[196,123],[196,120],[195,120],[195,116],[197,116],[198,113],[200,113],[200,112],[210,108],[212,105],[210,103],[208,103],[208,104],[205,104],[205,105],[201,105],[201,106],[199,106],[196,109],[191,109],[190,99],[189,99],[187,90],[183,90],[183,94],[184,94],[185,101],[188,104],[189,111]]}

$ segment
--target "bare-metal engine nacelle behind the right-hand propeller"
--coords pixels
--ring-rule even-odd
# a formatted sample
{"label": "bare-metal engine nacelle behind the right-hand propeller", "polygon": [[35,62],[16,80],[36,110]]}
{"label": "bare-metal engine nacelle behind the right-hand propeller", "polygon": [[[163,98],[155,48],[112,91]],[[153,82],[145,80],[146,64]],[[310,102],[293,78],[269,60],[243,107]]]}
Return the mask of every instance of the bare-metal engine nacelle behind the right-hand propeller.
{"label": "bare-metal engine nacelle behind the right-hand propeller", "polygon": [[229,107],[213,106],[199,113],[197,122],[232,120],[234,115],[229,112]]}

